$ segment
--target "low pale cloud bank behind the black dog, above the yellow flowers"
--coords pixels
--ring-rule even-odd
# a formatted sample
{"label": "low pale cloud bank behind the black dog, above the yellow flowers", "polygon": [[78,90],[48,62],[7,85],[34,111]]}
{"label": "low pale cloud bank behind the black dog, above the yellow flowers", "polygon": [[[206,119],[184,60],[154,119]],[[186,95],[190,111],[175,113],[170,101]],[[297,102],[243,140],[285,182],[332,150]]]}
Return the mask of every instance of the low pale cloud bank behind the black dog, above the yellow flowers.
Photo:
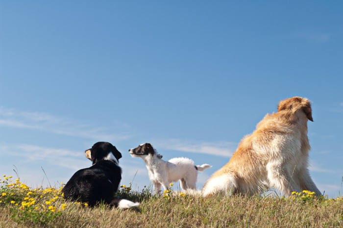
{"label": "low pale cloud bank behind the black dog, above the yellow flowers", "polygon": [[[41,167],[44,167],[44,172],[47,172],[49,181],[53,184],[61,181],[66,183],[75,171],[92,165],[83,151],[5,143],[0,143],[0,151],[2,157],[9,159],[0,160],[2,172],[5,172],[3,174],[8,175],[13,170],[12,166],[15,165],[19,170],[20,178],[25,183],[29,183],[30,186],[39,186],[43,182],[49,184],[46,180],[43,181],[46,177],[44,177]],[[138,161],[120,161],[120,166],[123,169],[123,183],[128,184],[133,180],[135,184],[140,186],[149,183],[147,168],[143,162],[137,163]],[[54,172],[56,170],[58,172]]]}

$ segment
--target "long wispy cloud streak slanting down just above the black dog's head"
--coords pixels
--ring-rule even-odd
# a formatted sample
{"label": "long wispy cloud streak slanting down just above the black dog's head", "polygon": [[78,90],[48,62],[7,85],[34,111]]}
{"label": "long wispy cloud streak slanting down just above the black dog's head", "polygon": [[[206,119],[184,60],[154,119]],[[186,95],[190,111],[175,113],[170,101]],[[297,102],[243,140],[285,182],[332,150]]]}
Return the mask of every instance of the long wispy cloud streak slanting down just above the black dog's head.
{"label": "long wispy cloud streak slanting down just above the black dog's head", "polygon": [[47,113],[19,111],[4,107],[0,107],[0,126],[106,141],[115,139],[117,142],[130,137],[129,134],[109,133],[111,129],[81,124],[75,120],[64,119]]}

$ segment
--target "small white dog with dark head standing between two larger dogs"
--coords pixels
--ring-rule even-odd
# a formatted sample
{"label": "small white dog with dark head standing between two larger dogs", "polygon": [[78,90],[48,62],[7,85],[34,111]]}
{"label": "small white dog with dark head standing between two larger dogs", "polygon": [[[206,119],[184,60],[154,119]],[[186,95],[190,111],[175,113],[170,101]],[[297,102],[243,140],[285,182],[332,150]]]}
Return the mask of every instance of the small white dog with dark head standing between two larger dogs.
{"label": "small white dog with dark head standing between two larger dogs", "polygon": [[180,180],[182,190],[195,189],[197,171],[211,168],[208,164],[194,165],[194,161],[185,157],[172,158],[169,161],[162,160],[150,143],[139,145],[130,149],[132,157],[141,157],[147,166],[149,178],[154,185],[155,194],[159,193],[161,185],[164,190],[168,189],[169,183]]}

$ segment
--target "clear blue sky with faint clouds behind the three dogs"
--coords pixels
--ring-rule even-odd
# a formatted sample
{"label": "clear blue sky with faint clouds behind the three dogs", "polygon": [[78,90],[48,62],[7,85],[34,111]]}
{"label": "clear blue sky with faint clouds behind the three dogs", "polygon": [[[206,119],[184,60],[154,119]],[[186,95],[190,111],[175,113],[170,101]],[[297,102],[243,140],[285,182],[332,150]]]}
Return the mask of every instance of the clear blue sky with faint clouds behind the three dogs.
{"label": "clear blue sky with faint clouds behind the three dogs", "polygon": [[342,0],[1,1],[0,174],[59,186],[108,141],[123,153],[122,183],[141,189],[147,171],[128,150],[150,142],[164,159],[211,164],[200,188],[279,101],[301,96],[313,102],[311,176],[342,195],[342,10]]}

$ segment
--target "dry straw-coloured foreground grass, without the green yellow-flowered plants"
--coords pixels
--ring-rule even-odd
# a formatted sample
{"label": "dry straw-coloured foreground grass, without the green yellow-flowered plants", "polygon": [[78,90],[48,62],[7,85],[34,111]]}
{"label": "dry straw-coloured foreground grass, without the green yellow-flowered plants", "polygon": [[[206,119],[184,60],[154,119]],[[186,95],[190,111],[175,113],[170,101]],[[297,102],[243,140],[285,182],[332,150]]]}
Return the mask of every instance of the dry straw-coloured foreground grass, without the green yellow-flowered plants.
{"label": "dry straw-coloured foreground grass, without the green yellow-flowered plants", "polygon": [[138,209],[119,210],[73,205],[47,224],[13,220],[0,207],[1,227],[343,227],[343,200],[301,202],[284,198],[234,196],[152,197]]}

